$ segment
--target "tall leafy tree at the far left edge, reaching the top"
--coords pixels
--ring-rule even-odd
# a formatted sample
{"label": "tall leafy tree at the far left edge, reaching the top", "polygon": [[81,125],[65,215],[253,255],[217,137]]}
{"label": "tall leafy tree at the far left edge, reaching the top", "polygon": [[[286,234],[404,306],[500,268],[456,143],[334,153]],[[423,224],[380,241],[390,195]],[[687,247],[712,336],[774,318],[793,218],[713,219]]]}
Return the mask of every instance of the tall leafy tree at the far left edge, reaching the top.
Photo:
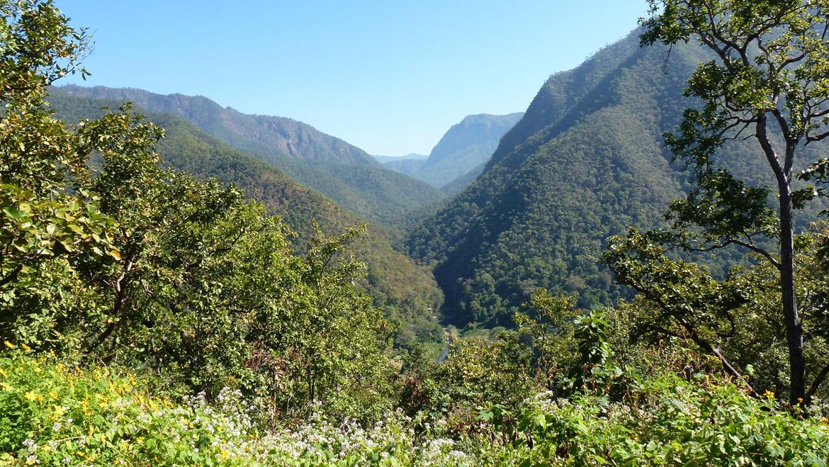
{"label": "tall leafy tree at the far left edge, reaching the top", "polygon": [[44,86],[79,70],[88,36],[51,2],[2,1],[0,16],[0,336],[45,346],[94,294],[77,260],[119,252],[85,186],[89,153],[44,103]]}

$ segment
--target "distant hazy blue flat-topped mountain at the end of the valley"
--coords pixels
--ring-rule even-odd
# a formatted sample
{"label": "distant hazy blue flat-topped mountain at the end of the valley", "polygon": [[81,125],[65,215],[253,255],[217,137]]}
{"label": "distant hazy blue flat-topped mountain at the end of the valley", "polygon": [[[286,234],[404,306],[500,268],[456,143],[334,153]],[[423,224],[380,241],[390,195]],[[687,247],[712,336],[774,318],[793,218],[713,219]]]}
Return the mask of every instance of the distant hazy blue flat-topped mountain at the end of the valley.
{"label": "distant hazy blue flat-topped mountain at the end of the valley", "polygon": [[[486,163],[498,146],[498,141],[512,125],[521,119],[522,113],[507,115],[468,115],[460,123],[452,125],[438,144],[432,148],[429,158],[383,160],[383,164],[405,173],[434,187],[443,188],[449,182],[470,173]],[[474,177],[472,178],[474,179]],[[458,183],[455,183],[458,186]],[[457,192],[458,188],[449,192]]]}

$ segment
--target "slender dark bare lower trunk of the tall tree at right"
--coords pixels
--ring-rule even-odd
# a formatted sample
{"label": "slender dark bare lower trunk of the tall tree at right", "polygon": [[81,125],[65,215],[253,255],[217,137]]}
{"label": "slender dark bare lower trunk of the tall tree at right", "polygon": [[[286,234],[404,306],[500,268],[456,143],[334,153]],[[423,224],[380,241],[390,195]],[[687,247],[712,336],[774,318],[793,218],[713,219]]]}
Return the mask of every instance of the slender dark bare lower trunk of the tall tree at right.
{"label": "slender dark bare lower trunk of the tall tree at right", "polygon": [[792,197],[788,181],[780,187],[780,290],[783,322],[786,323],[790,375],[789,402],[794,406],[806,398],[806,364],[803,358],[803,325],[794,296],[794,229]]}

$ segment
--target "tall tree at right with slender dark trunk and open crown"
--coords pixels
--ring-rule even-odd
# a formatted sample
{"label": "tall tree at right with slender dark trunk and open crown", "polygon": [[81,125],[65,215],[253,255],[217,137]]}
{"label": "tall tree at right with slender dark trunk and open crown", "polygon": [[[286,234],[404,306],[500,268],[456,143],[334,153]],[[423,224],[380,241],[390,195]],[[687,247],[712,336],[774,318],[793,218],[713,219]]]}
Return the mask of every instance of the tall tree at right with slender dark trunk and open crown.
{"label": "tall tree at right with slender dark trunk and open crown", "polygon": [[[667,147],[692,170],[693,187],[671,206],[669,241],[710,251],[743,246],[764,256],[779,273],[790,372],[789,401],[806,397],[803,326],[794,275],[796,210],[821,194],[797,189],[807,144],[829,136],[829,2],[825,0],[648,0],[643,45],[696,39],[715,54],[691,76],[687,109]],[[768,162],[773,187],[749,187],[718,163],[730,139],[754,139]],[[778,197],[776,208],[769,194]],[[776,249],[759,238],[778,241]]]}

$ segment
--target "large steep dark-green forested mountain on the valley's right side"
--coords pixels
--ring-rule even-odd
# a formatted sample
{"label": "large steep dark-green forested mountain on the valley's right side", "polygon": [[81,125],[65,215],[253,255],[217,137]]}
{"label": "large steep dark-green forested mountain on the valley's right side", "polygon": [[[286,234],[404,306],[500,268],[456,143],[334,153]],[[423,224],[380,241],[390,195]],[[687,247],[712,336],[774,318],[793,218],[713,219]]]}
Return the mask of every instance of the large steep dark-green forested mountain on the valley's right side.
{"label": "large steep dark-green forested mountain on the valley's right side", "polygon": [[[666,62],[638,34],[550,76],[482,175],[410,234],[410,254],[434,265],[455,322],[507,324],[538,287],[578,293],[584,307],[623,294],[599,253],[629,226],[658,225],[683,192],[662,134],[691,105],[682,90],[707,57],[683,44]],[[768,173],[747,144],[727,148],[740,178]]]}

